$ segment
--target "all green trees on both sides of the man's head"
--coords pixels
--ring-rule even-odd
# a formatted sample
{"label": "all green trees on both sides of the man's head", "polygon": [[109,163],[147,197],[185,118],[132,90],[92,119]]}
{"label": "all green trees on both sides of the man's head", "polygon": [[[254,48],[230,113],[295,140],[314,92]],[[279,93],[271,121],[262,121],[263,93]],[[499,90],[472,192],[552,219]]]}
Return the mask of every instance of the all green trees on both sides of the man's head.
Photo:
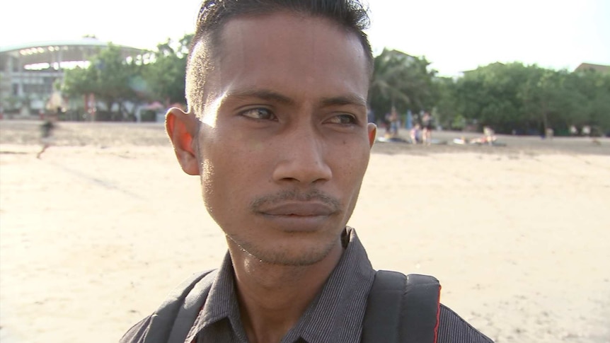
{"label": "all green trees on both sides of the man's head", "polygon": [[[88,67],[67,71],[62,91],[73,98],[95,94],[106,108],[118,108],[112,115],[118,120],[129,112],[127,102],[185,103],[191,40],[192,35],[168,40],[140,59],[125,59],[110,45]],[[447,78],[438,76],[425,57],[384,50],[374,57],[368,100],[378,122],[395,108],[403,116],[430,112],[444,129],[488,126],[504,134],[546,129],[568,134],[570,127],[589,126],[610,134],[610,74],[593,70],[493,63]]]}

